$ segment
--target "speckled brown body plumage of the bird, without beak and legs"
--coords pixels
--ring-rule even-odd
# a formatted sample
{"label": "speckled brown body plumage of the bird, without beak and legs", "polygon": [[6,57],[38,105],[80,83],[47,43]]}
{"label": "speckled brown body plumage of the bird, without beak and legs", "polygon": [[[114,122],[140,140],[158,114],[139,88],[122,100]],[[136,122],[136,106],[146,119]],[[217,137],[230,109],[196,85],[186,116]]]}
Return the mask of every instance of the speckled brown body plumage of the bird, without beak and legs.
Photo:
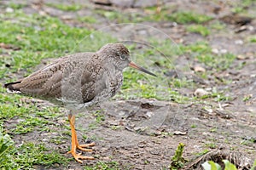
{"label": "speckled brown body plumage of the bird, without beak and legs", "polygon": [[[127,55],[125,66],[130,62],[125,46],[114,44],[116,52],[113,52],[112,46],[108,44],[96,53],[71,54],[56,59],[29,77],[7,83],[5,87],[41,99],[96,104],[113,96],[122,84],[123,67],[115,69],[113,61],[117,60],[117,63],[119,59],[114,55]],[[61,93],[63,90],[64,93]],[[104,95],[104,98],[99,95]]]}

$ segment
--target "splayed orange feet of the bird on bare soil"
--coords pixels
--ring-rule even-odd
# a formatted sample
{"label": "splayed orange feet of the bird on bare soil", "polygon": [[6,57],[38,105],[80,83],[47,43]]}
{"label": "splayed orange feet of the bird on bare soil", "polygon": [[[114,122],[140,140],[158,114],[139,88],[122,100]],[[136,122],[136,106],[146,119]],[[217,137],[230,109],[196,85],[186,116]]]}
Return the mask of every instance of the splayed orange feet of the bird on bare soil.
{"label": "splayed orange feet of the bird on bare soil", "polygon": [[76,161],[79,161],[79,163],[83,163],[81,160],[94,160],[93,156],[81,156],[81,153],[77,154],[76,149],[82,150],[82,151],[92,151],[91,149],[87,149],[88,147],[94,146],[95,143],[90,144],[78,144],[76,145],[72,150],[68,151],[68,154],[72,154],[72,156],[75,158]]}

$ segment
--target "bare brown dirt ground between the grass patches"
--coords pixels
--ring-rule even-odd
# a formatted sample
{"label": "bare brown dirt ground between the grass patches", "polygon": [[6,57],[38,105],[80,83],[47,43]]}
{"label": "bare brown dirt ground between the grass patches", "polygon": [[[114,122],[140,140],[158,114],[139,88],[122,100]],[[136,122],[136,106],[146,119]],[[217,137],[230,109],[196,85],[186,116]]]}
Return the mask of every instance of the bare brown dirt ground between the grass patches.
{"label": "bare brown dirt ground between the grass patches", "polygon": [[[33,1],[32,3],[23,1],[22,3],[27,4],[26,8],[23,10],[27,14],[35,13],[37,12],[34,10],[35,5],[40,5],[42,6],[42,11],[60,17],[61,20],[71,26],[86,26],[86,24],[78,23],[77,20],[74,20],[73,15],[75,14],[72,12],[64,12],[44,6],[44,3],[52,2],[53,1],[41,1],[41,3],[38,4]],[[63,2],[70,3],[69,1]],[[136,8],[126,8],[123,10],[132,9],[133,12],[144,12],[141,8],[143,3],[131,5],[131,2],[127,2],[127,4],[125,3],[126,5],[131,7],[136,6]],[[150,2],[147,3],[148,6],[150,6]],[[218,18],[231,14],[230,8],[232,7],[231,4],[223,2],[210,3],[207,1],[192,0],[187,0],[186,3],[181,3],[180,1],[164,2],[173,3],[176,10],[188,8],[193,10],[194,8],[195,11]],[[102,4],[88,2],[88,6],[90,7],[86,8],[86,10],[88,10],[86,13],[91,14],[91,11],[95,8],[115,9],[122,8],[122,6],[119,5],[125,5],[119,3],[113,4],[116,6],[111,6],[111,3],[104,6]],[[154,4],[154,2],[152,4]],[[218,14],[216,14],[216,10],[218,10]],[[248,8],[247,10],[249,13],[255,14],[253,9]],[[76,12],[76,14],[78,13],[83,14],[83,10]],[[68,17],[66,17],[66,19],[64,17],[63,19],[63,15]],[[101,20],[101,23],[91,24],[90,27],[102,28],[103,26],[109,26],[109,24],[111,24],[109,20],[102,18],[102,16],[97,15],[96,17],[98,17],[97,20]],[[224,105],[222,108],[218,107],[218,102],[210,103],[208,106],[214,108],[212,111],[211,109],[207,109],[204,104],[177,104],[171,101],[157,101],[154,99],[111,100],[105,102],[101,106],[103,108],[101,114],[104,115],[104,120],[96,124],[95,128],[91,129],[89,127],[90,123],[95,122],[95,116],[84,114],[77,119],[79,129],[90,129],[86,130],[86,136],[95,137],[94,141],[96,142],[96,146],[93,147],[93,152],[84,153],[84,155],[97,156],[96,160],[84,161],[83,164],[71,161],[65,168],[82,169],[84,165],[96,165],[97,161],[118,161],[119,166],[124,168],[161,169],[170,165],[177,145],[183,143],[185,144],[183,156],[189,160],[184,167],[185,169],[197,169],[200,168],[200,164],[204,160],[213,159],[218,161],[216,158],[217,155],[219,157],[223,156],[222,158],[227,158],[232,154],[236,161],[239,159],[240,161],[247,160],[240,165],[236,163],[236,166],[247,169],[249,167],[248,165],[252,165],[253,160],[256,159],[256,43],[239,42],[237,40],[242,40],[243,37],[247,35],[255,35],[256,20],[254,19],[252,22],[245,25],[246,29],[244,31],[236,33],[237,29],[241,29],[241,26],[230,23],[224,31],[211,33],[208,37],[188,33],[181,25],[169,26],[167,25],[168,23],[158,22],[145,22],[144,24],[154,26],[166,32],[166,34],[172,37],[176,42],[191,44],[198,40],[206,40],[210,43],[212,48],[219,50],[225,49],[230,53],[240,56],[230,69],[218,72],[218,75],[212,75],[213,78],[207,80],[207,85],[202,85],[199,82],[198,87],[196,87],[216,87],[219,90],[229,89],[227,93],[232,100],[221,103],[221,105]],[[124,33],[131,34],[130,29],[125,26],[117,28],[117,30],[117,37]],[[152,32],[145,33],[141,29],[138,29],[136,32],[138,35],[154,34]],[[189,63],[189,58],[186,59],[187,60],[184,62]],[[244,66],[241,70],[236,70],[237,65]],[[176,66],[180,66],[178,62]],[[215,78],[223,77],[229,77],[232,82],[222,84],[221,82],[216,83],[213,81]],[[183,94],[192,95],[194,91],[195,88],[183,89]],[[251,99],[244,102],[242,99],[248,95],[251,96]],[[98,109],[99,108],[96,107],[88,112],[91,113]],[[56,118],[55,122],[65,122],[65,120],[66,117],[59,117]],[[61,131],[63,127],[61,127],[61,123],[59,124],[58,130]],[[85,142],[82,140],[82,134],[84,134],[84,132],[80,130],[79,139],[81,143]],[[58,134],[33,132],[15,135],[15,142],[34,141],[38,143],[38,139],[45,142],[50,139],[52,135]],[[242,141],[253,142],[241,144]],[[49,144],[51,148],[60,150],[63,155],[65,155],[69,147],[68,139],[65,139],[65,142],[61,144]],[[215,146],[212,146],[211,149],[207,148],[206,144],[214,144]],[[211,150],[210,153],[212,154],[207,155],[207,159],[198,155],[206,149]],[[236,158],[237,156],[239,158]],[[44,167],[36,168],[40,169]],[[61,165],[50,168],[63,169]]]}

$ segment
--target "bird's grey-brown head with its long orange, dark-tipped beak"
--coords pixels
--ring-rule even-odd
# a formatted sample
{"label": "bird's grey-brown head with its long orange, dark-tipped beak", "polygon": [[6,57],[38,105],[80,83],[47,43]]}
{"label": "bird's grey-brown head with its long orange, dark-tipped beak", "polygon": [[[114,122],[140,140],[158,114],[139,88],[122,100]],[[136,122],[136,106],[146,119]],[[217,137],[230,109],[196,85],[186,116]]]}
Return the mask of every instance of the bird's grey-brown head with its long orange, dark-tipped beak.
{"label": "bird's grey-brown head with its long orange, dark-tipped beak", "polygon": [[117,69],[123,71],[125,67],[130,66],[139,71],[143,71],[151,76],[156,77],[154,73],[147,71],[141,66],[136,65],[131,61],[130,52],[122,43],[108,43],[104,45],[100,50],[99,54],[106,56],[106,59],[115,65]]}

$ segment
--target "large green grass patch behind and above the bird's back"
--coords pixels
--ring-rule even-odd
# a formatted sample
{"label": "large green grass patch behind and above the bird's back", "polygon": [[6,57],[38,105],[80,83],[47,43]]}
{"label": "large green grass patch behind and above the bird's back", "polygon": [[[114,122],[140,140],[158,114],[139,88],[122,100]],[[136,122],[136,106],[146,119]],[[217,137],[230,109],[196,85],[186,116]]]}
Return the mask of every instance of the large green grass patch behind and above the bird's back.
{"label": "large green grass patch behind and above the bird's back", "polygon": [[[26,15],[18,11],[0,17],[0,42],[20,48],[2,48],[0,78],[6,76],[9,71],[26,70],[30,73],[30,69],[42,59],[72,53],[77,42],[90,34],[86,29],[70,27],[61,20],[38,14]],[[12,21],[14,18],[15,23]],[[7,64],[10,65],[9,68],[5,66]]]}

